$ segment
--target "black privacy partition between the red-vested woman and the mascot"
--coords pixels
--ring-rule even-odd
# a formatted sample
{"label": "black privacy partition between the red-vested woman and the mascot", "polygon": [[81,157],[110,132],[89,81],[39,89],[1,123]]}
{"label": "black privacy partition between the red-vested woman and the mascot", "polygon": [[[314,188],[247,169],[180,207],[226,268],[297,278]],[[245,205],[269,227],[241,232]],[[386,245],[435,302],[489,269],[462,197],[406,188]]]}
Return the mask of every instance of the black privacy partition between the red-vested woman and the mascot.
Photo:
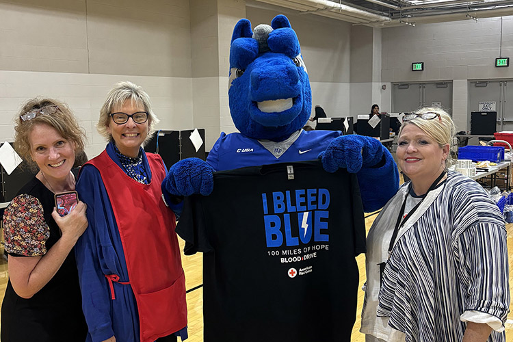
{"label": "black privacy partition between the red-vested woman and the mascot", "polygon": [[205,160],[205,129],[198,129],[203,141],[198,152],[189,139],[194,129],[186,131],[157,131],[151,140],[144,145],[144,150],[150,153],[158,153],[166,167],[170,168],[176,161],[189,157],[197,157]]}

